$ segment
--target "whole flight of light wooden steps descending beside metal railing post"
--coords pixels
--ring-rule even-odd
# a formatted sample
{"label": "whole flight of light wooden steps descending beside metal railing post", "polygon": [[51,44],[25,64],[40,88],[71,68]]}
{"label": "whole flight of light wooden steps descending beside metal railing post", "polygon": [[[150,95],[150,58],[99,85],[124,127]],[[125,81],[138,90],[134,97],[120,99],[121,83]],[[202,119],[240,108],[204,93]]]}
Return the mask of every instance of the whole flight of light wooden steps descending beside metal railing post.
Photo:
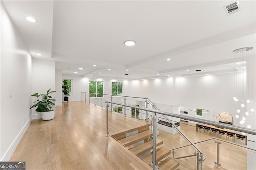
{"label": "whole flight of light wooden steps descending beside metal railing post", "polygon": [[[124,147],[130,149],[131,152],[142,158],[149,164],[152,162],[152,131],[149,124],[126,129],[117,132],[111,137],[122,143]],[[178,161],[170,157],[170,150],[163,145],[161,139],[156,139],[156,164],[160,170],[174,170],[180,164]]]}

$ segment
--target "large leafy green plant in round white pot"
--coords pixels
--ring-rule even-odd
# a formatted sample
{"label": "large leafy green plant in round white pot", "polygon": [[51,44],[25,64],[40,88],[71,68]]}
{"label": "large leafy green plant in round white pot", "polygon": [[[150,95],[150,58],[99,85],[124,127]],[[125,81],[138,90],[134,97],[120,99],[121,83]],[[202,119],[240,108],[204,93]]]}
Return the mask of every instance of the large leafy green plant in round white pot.
{"label": "large leafy green plant in round white pot", "polygon": [[55,99],[51,99],[52,96],[49,96],[50,93],[54,93],[56,91],[51,91],[51,89],[47,90],[46,94],[38,94],[34,93],[31,96],[37,97],[37,100],[34,102],[33,106],[30,107],[37,107],[36,111],[42,113],[42,119],[43,120],[51,120],[54,118],[54,110],[52,110],[52,106],[55,105],[52,101],[55,101]]}

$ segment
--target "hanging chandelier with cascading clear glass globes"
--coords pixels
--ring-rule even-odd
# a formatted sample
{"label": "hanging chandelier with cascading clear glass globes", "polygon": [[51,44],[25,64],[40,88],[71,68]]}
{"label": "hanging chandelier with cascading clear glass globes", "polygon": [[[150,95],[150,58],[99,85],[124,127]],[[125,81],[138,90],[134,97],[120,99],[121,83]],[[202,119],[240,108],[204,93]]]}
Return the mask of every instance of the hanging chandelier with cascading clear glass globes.
{"label": "hanging chandelier with cascading clear glass globes", "polygon": [[[235,49],[234,52],[234,97],[236,102],[236,118],[240,118],[242,125],[246,117],[255,109],[255,59],[252,58],[253,47]],[[249,52],[250,51],[250,52]],[[254,60],[254,61],[253,61]],[[248,119],[250,120],[250,119]],[[247,124],[251,124],[248,122]],[[251,126],[248,125],[248,128]]]}

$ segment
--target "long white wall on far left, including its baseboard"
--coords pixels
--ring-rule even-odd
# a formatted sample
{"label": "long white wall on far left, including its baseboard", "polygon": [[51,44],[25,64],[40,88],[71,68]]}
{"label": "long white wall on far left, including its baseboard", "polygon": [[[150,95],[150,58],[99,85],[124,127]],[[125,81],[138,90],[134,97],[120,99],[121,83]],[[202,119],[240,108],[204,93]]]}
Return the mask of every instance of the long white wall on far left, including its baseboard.
{"label": "long white wall on far left, including its baseboard", "polygon": [[0,70],[0,161],[8,161],[30,124],[32,58],[2,3]]}

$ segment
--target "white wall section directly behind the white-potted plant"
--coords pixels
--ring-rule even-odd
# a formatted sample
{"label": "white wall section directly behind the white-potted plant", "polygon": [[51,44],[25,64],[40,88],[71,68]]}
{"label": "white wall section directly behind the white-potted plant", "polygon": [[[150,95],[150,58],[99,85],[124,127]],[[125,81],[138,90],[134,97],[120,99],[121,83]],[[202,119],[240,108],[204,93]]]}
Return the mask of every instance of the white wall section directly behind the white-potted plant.
{"label": "white wall section directly behind the white-potted plant", "polygon": [[[55,61],[33,59],[32,64],[32,93],[45,94],[48,89],[55,90]],[[55,99],[55,93],[52,93],[52,98]],[[32,102],[36,97],[31,97]],[[53,107],[55,109],[55,107]],[[40,112],[32,108],[32,119],[42,118]]]}

